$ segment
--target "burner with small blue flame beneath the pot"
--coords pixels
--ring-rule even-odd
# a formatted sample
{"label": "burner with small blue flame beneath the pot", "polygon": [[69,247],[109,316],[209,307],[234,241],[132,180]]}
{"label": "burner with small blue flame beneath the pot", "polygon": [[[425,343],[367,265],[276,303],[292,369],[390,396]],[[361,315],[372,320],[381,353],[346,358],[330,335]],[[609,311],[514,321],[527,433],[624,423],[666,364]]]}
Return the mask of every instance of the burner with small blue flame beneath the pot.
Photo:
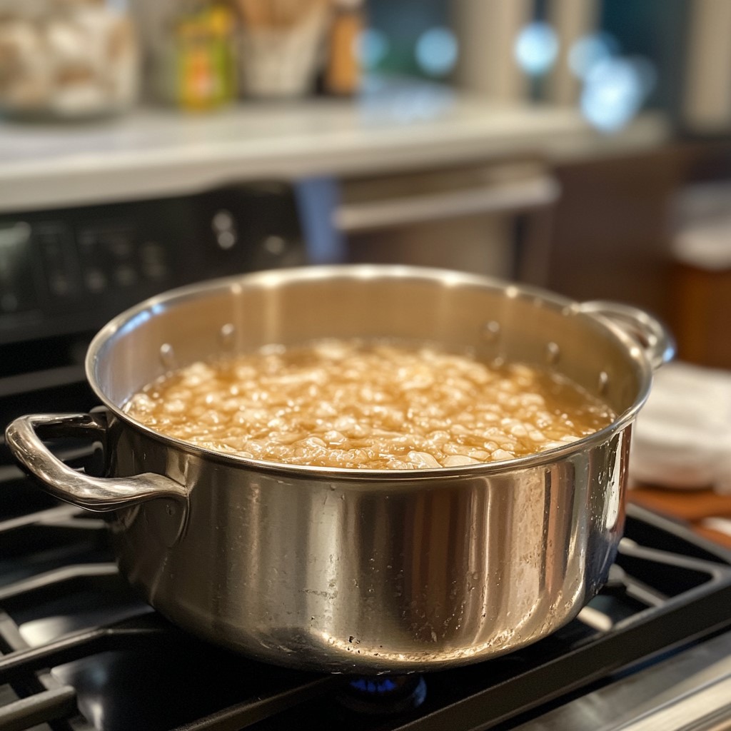
{"label": "burner with small blue flame beneath the pot", "polygon": [[426,697],[423,675],[376,675],[354,678],[338,694],[346,708],[374,716],[418,708]]}

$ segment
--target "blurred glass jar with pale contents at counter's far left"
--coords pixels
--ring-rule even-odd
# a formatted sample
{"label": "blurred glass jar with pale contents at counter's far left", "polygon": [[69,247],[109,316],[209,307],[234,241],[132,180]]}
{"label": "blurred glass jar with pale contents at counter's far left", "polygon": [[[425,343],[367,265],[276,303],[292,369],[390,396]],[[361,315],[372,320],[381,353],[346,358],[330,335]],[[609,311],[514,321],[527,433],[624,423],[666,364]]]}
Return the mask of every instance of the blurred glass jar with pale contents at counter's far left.
{"label": "blurred glass jar with pale contents at counter's far left", "polygon": [[119,0],[0,0],[0,109],[88,118],[129,109],[140,70]]}

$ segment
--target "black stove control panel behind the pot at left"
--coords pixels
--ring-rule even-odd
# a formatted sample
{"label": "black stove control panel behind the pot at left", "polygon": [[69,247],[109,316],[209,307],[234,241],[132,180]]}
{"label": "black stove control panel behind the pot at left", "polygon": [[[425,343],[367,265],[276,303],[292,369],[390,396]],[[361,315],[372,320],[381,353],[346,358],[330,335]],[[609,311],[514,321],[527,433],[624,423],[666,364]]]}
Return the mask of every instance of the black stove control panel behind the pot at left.
{"label": "black stove control panel behind the pot at left", "polygon": [[95,330],[159,292],[306,263],[290,186],[0,216],[0,344]]}

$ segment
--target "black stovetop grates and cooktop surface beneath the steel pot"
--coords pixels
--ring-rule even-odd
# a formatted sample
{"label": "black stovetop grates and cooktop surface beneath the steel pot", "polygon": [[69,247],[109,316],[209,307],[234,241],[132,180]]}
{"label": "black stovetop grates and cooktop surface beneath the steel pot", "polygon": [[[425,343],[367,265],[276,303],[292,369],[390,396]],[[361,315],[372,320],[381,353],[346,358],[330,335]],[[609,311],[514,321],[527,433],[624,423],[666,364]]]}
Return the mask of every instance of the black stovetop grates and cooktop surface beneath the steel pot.
{"label": "black stovetop grates and cooktop surface beneath the steel pot", "polygon": [[580,618],[513,654],[429,673],[417,708],[358,713],[338,701],[351,678],[254,662],[169,624],[118,575],[103,521],[30,483],[0,467],[3,730],[510,729],[731,626],[730,554],[629,506],[610,581]]}

